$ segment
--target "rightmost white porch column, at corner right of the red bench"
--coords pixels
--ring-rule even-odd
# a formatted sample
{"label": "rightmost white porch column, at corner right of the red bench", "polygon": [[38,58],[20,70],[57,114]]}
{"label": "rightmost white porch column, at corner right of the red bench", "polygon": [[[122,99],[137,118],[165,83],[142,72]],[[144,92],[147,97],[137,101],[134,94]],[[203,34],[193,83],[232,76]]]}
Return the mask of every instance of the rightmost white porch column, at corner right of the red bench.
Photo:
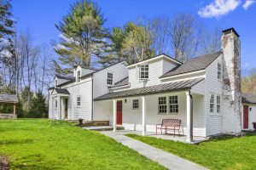
{"label": "rightmost white porch column, at corner right of the red bench", "polygon": [[192,96],[189,92],[187,95],[187,142],[193,141],[193,116],[192,116]]}

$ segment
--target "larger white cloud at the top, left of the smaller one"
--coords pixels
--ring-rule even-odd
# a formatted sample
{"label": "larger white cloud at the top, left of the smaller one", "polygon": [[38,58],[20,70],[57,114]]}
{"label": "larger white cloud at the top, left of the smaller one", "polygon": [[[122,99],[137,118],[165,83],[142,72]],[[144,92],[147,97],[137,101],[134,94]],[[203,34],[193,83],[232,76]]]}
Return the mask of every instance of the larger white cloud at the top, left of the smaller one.
{"label": "larger white cloud at the top, left of the smaller one", "polygon": [[198,14],[204,18],[218,18],[235,10],[241,3],[241,0],[214,0],[206,7],[201,8]]}

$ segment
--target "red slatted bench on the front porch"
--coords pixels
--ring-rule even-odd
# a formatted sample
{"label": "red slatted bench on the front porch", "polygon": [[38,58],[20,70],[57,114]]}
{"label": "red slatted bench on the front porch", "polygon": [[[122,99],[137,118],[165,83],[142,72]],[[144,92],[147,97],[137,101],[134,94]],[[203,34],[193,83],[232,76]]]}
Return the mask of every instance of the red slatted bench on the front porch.
{"label": "red slatted bench on the front porch", "polygon": [[176,131],[178,132],[178,135],[180,135],[180,125],[181,125],[181,120],[179,119],[163,119],[162,124],[157,124],[156,125],[156,134],[157,134],[157,130],[160,129],[161,134],[162,130],[164,129],[165,131],[168,130],[173,130],[174,135],[176,133]]}

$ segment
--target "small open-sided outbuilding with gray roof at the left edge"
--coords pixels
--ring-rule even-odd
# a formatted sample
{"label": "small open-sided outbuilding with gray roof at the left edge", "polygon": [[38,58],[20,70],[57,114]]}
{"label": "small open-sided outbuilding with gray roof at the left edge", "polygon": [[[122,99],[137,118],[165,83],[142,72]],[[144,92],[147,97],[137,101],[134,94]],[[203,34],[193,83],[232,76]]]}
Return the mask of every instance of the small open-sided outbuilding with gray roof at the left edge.
{"label": "small open-sided outbuilding with gray roof at the left edge", "polygon": [[14,112],[13,114],[1,113],[0,119],[10,119],[17,118],[16,115],[16,104],[19,102],[16,94],[0,94],[0,104],[13,104]]}

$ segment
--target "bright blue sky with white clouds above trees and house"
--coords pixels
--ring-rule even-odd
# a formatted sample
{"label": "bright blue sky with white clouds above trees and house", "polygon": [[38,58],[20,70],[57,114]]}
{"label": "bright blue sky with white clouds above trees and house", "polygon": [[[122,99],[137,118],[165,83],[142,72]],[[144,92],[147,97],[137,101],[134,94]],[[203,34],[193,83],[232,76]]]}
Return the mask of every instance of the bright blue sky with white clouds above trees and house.
{"label": "bright blue sky with white clouds above trees and house", "polygon": [[[74,0],[13,0],[14,18],[22,30],[32,32],[38,44],[56,40],[55,23],[67,14]],[[256,3],[253,0],[97,0],[107,22],[105,26],[123,26],[138,16],[152,18],[177,13],[193,14],[209,29],[234,27],[241,36],[241,65],[256,67]],[[56,55],[53,53],[53,57]]]}

